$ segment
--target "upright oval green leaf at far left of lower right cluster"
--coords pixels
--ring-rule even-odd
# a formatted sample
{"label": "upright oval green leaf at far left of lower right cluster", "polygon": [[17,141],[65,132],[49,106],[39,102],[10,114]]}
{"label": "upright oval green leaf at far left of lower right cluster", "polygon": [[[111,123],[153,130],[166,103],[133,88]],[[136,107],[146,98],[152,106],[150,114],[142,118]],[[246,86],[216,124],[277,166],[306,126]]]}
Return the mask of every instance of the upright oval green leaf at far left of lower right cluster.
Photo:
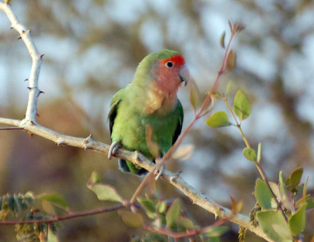
{"label": "upright oval green leaf at far left of lower right cluster", "polygon": [[269,187],[267,184],[261,180],[257,179],[255,183],[255,198],[259,206],[263,209],[271,209],[271,199],[272,199],[272,194],[270,192]]}

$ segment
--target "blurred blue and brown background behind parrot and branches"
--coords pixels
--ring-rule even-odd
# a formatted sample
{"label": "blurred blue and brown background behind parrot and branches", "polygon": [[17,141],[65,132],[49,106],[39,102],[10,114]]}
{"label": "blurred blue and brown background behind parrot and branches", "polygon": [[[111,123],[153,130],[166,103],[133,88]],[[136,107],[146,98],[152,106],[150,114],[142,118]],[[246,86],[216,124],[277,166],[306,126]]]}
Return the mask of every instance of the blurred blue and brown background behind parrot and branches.
{"label": "blurred blue and brown background behind parrot and branches", "polygon": [[[12,1],[19,20],[31,29],[40,53],[39,124],[63,134],[110,144],[106,115],[113,94],[132,81],[139,61],[150,52],[178,50],[205,98],[219,70],[224,49],[219,39],[228,19],[246,24],[231,48],[237,67],[221,78],[219,91],[229,81],[230,102],[236,91],[246,92],[250,117],[242,124],[252,147],[262,143],[262,166],[269,180],[278,182],[303,166],[314,195],[314,3],[311,0],[31,0]],[[0,13],[0,117],[23,119],[28,90],[30,55],[19,34],[10,30]],[[185,117],[193,117],[187,88],[179,98]],[[231,103],[232,104],[232,103]],[[227,110],[217,102],[215,110]],[[231,117],[230,117],[231,120]],[[219,204],[230,207],[229,196],[244,201],[244,214],[254,206],[252,195],[259,173],[242,155],[245,147],[234,127],[209,128],[198,120],[184,139],[196,146],[186,161],[167,163],[181,176]],[[130,198],[140,178],[118,171],[117,160],[106,155],[63,146],[19,130],[0,132],[0,194],[33,191],[56,192],[81,211],[112,203],[100,202],[86,187],[92,171]],[[187,213],[200,226],[213,223],[204,212],[174,187],[159,180],[165,199],[182,197]],[[58,211],[62,214],[62,211]],[[314,223],[307,212],[309,241]],[[60,241],[128,241],[143,229],[130,229],[116,212],[62,223]],[[222,241],[236,241],[237,226]],[[1,241],[14,241],[14,227],[0,227]],[[247,241],[263,241],[247,233]]]}

